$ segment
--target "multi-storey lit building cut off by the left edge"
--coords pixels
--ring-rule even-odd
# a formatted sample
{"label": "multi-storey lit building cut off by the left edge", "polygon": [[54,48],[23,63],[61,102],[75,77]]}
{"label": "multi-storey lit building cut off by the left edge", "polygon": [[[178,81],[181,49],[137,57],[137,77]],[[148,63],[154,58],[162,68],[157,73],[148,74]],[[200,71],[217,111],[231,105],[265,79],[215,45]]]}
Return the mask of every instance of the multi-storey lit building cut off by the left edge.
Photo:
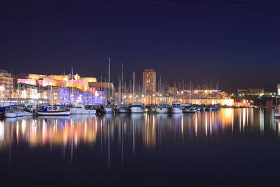
{"label": "multi-storey lit building cut off by the left edge", "polygon": [[6,70],[0,69],[0,98],[11,97],[13,93],[13,78]]}

